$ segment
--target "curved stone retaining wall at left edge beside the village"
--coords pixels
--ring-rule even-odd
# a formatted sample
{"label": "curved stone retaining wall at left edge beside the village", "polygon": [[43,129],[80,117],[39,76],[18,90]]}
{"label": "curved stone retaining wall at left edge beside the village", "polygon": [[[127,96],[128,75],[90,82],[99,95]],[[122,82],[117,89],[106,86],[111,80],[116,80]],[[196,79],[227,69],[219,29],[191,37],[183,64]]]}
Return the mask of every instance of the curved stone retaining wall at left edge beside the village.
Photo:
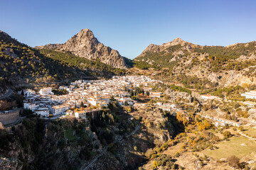
{"label": "curved stone retaining wall at left edge beside the village", "polygon": [[8,112],[0,113],[0,122],[3,123],[3,125],[15,123],[19,118],[20,111],[21,108],[16,108]]}

